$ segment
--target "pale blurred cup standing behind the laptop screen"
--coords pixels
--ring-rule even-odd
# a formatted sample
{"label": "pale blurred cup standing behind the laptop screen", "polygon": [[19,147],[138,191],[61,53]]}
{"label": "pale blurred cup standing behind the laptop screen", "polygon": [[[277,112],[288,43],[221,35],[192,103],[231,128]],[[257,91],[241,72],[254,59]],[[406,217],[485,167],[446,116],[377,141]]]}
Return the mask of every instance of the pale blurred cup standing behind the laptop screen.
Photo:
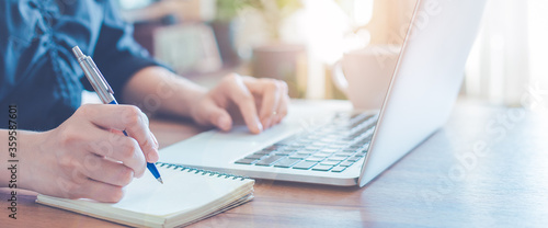
{"label": "pale blurred cup standing behind the laptop screen", "polygon": [[369,45],[345,53],[333,66],[333,83],[355,110],[380,109],[400,50],[396,45]]}

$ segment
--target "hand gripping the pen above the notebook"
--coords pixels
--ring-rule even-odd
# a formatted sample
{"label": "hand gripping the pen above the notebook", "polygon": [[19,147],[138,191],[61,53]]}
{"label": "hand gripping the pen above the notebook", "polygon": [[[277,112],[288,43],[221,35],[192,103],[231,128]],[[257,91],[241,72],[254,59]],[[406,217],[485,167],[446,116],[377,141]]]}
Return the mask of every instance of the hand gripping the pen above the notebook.
{"label": "hand gripping the pen above the notebook", "polygon": [[27,163],[24,184],[52,196],[118,202],[123,186],[145,173],[146,161],[159,158],[147,116],[132,105],[83,105],[35,137],[37,148],[21,159]]}

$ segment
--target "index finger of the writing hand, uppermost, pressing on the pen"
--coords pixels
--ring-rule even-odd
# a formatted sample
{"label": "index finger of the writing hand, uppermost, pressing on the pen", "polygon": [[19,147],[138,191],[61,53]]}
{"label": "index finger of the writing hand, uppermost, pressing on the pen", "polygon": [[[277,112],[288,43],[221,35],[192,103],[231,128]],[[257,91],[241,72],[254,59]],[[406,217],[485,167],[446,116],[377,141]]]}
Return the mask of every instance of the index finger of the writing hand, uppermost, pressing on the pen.
{"label": "index finger of the writing hand, uppermost, pressing on the pen", "polygon": [[96,126],[105,129],[125,130],[135,138],[147,161],[158,160],[158,148],[150,129],[148,117],[133,105],[88,104],[79,109]]}

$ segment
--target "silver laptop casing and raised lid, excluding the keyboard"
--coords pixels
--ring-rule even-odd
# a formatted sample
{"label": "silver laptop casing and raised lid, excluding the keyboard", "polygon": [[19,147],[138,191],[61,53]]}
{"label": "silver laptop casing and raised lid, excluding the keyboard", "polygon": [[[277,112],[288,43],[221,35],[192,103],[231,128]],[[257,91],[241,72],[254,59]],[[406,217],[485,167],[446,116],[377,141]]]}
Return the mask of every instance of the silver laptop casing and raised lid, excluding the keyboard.
{"label": "silver laptop casing and raised lid, excluding the keyboard", "polygon": [[[447,121],[486,0],[419,0],[365,157],[342,172],[235,163],[295,134],[306,134],[347,102],[294,101],[282,124],[260,135],[244,126],[209,130],[160,150],[160,161],[256,179],[364,186]],[[364,72],[366,73],[366,72]]]}

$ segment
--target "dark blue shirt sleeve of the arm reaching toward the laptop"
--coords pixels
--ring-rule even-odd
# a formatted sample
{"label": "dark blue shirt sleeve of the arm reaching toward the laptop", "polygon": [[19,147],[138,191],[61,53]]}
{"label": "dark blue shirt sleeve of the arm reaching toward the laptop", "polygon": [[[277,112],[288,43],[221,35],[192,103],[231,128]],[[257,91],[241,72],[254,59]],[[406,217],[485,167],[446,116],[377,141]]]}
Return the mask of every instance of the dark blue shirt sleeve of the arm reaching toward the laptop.
{"label": "dark blue shirt sleeve of the arm reaching toward the laptop", "polygon": [[[165,67],[155,60],[133,37],[133,26],[123,21],[112,1],[104,1],[104,21],[93,53],[93,60],[122,101],[122,89],[142,68]],[[123,101],[122,101],[123,102]]]}

